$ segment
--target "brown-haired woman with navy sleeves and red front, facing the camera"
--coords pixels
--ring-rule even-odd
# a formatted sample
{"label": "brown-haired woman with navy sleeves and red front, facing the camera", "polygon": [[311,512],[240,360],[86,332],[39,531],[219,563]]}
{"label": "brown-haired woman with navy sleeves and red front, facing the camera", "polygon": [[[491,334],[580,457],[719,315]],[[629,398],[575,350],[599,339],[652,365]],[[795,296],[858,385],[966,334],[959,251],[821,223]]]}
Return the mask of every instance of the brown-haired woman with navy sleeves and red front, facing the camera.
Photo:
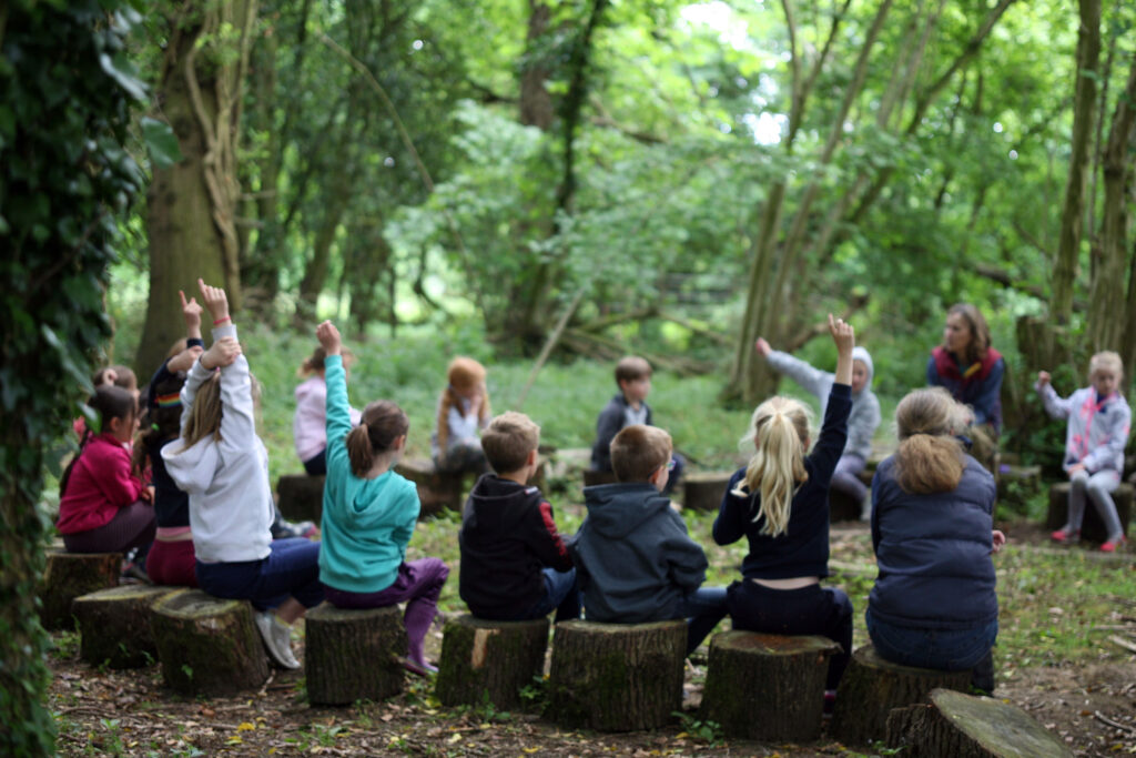
{"label": "brown-haired woman with navy sleeves and red front, facing the camera", "polygon": [[972,443],[971,455],[993,469],[997,436],[1002,432],[1002,376],[1005,361],[991,347],[991,331],[978,309],[968,302],[946,311],[943,344],[930,351],[928,386],[941,386],[970,408],[962,433]]}

